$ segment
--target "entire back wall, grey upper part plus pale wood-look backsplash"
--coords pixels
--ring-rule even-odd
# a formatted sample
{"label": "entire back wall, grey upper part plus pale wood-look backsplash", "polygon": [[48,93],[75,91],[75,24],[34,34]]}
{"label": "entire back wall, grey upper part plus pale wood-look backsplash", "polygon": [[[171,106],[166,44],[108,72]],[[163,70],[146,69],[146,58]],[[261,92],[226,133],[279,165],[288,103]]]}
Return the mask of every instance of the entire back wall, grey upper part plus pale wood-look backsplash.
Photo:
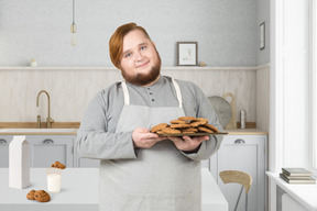
{"label": "entire back wall, grey upper part plus pale wood-look backsplash", "polygon": [[[270,32],[267,1],[76,0],[78,45],[73,47],[69,44],[72,0],[0,0],[0,121],[35,121],[35,99],[41,89],[51,95],[55,121],[80,121],[90,98],[121,79],[114,69],[105,73],[99,67],[111,69],[108,40],[119,25],[134,21],[156,43],[165,68],[176,65],[177,41],[197,41],[198,62],[220,68],[210,73],[197,74],[192,69],[166,74],[198,82],[208,96],[233,92],[237,120],[240,120],[239,111],[247,109],[247,121],[256,121],[266,130],[269,108],[263,99],[269,93],[261,90],[267,88],[267,78],[262,76],[269,76],[270,68],[261,68],[256,74],[243,67],[270,63],[269,36],[265,49],[259,49],[259,23],[265,21],[266,34]],[[36,59],[40,69],[23,69],[31,58]],[[12,70],[6,66],[21,68]],[[228,71],[226,67],[241,70]],[[42,98],[41,104],[46,108]],[[46,110],[40,112],[46,116]]]}

